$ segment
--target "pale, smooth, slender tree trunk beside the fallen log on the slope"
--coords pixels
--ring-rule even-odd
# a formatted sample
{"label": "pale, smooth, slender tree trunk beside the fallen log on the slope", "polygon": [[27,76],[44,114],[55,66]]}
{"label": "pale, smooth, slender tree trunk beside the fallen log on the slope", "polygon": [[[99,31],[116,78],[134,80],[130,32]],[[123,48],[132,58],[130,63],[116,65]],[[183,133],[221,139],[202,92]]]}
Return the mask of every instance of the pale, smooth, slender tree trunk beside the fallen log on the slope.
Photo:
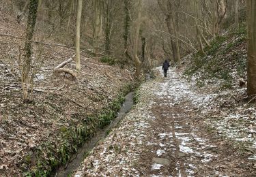
{"label": "pale, smooth, slender tree trunk beside the fallen log on the slope", "polygon": [[76,17],[76,70],[81,70],[80,62],[80,26],[82,16],[83,0],[77,2],[77,17]]}

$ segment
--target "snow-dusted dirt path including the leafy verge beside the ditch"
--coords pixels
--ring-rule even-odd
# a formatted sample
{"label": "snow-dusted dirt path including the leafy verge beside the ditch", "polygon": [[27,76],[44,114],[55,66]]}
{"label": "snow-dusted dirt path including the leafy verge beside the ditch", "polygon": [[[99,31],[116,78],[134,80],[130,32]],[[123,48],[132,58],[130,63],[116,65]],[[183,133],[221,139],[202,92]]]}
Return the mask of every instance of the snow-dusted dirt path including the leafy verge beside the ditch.
{"label": "snow-dusted dirt path including the leafy verge beside the ditch", "polygon": [[[195,93],[175,71],[144,84],[140,94],[141,103],[76,176],[256,176],[253,161],[204,126],[200,116],[211,97]],[[109,152],[111,144],[118,148]]]}

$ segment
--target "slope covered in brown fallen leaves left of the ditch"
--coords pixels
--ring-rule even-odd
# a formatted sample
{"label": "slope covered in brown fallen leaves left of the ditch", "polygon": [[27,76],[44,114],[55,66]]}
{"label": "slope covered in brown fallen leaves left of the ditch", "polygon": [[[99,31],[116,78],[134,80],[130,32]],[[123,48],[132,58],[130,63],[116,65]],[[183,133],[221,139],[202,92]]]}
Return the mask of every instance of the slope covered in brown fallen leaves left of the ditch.
{"label": "slope covered in brown fallen leaves left of the ditch", "polygon": [[[25,27],[0,12],[0,174],[49,174],[65,164],[84,140],[114,118],[123,95],[131,89],[130,73],[82,53],[77,78],[53,74],[74,50],[33,43],[42,58],[35,75],[34,101],[24,104],[20,85],[19,48]],[[40,33],[34,41],[40,41]],[[3,36],[9,35],[9,36]],[[10,37],[15,36],[15,37]],[[65,66],[75,71],[74,62]]]}

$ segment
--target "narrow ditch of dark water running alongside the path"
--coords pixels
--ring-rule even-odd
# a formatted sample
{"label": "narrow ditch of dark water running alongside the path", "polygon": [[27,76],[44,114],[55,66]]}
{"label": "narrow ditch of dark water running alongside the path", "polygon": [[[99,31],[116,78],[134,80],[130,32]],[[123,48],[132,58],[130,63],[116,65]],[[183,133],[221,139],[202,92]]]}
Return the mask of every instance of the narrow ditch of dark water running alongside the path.
{"label": "narrow ditch of dark water running alongside the path", "polygon": [[113,120],[113,122],[110,125],[106,126],[104,129],[98,129],[98,132],[94,135],[94,137],[92,137],[91,140],[88,140],[87,142],[85,142],[85,144],[83,144],[83,146],[76,153],[76,155],[72,157],[68,165],[59,167],[59,170],[57,170],[57,172],[52,176],[63,177],[63,176],[69,176],[70,174],[72,174],[72,172],[76,170],[76,168],[78,168],[81,162],[83,161],[85,154],[87,154],[87,152],[92,150],[96,146],[99,140],[104,139],[106,137],[106,134],[113,127],[115,127],[119,123],[119,121],[122,120],[122,118],[124,118],[126,113],[132,108],[133,97],[134,97],[134,92],[128,93],[125,97],[125,101],[122,104],[122,107],[120,108],[118,116],[115,118],[115,120]]}

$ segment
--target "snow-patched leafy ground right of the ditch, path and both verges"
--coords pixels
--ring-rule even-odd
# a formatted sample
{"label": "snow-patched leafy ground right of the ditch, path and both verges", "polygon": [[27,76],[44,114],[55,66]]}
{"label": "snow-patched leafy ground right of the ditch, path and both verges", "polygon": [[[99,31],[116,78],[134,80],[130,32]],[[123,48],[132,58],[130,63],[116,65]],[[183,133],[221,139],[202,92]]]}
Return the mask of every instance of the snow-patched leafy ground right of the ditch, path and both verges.
{"label": "snow-patched leafy ground right of the ditch, path and both verges", "polygon": [[199,90],[173,68],[137,95],[74,176],[256,176],[252,106],[229,108],[223,92]]}

